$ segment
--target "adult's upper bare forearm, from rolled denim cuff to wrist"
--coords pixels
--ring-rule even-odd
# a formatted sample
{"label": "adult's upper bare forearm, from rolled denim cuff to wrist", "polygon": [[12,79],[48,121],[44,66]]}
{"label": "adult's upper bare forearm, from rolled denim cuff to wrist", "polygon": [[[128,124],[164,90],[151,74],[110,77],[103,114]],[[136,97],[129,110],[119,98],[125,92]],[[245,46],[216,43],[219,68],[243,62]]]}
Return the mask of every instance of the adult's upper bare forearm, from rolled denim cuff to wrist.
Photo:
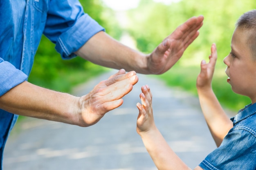
{"label": "adult's upper bare forearm, from rolled denim cuff to wrist", "polygon": [[76,54],[101,66],[148,74],[145,54],[121,44],[103,31],[90,38]]}

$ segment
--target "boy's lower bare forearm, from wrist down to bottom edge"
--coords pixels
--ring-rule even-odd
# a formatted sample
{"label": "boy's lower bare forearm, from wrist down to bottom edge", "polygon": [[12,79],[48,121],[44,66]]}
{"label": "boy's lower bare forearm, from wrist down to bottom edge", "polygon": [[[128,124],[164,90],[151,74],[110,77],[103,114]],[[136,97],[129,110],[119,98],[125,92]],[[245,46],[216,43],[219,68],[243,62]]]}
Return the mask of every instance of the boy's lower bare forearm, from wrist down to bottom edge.
{"label": "boy's lower bare forearm, from wrist down to bottom edge", "polygon": [[158,170],[191,170],[168,146],[157,128],[140,135]]}

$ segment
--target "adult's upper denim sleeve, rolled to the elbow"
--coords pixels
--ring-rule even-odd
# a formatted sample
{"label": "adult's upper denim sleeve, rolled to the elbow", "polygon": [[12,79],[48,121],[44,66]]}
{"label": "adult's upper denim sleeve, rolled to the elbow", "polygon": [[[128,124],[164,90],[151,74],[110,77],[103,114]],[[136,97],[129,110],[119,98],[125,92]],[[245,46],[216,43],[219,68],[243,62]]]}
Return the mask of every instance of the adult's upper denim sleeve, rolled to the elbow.
{"label": "adult's upper denim sleeve, rolled to the elbow", "polygon": [[74,52],[99,31],[105,30],[83,12],[79,0],[50,2],[44,34],[63,59],[75,57]]}

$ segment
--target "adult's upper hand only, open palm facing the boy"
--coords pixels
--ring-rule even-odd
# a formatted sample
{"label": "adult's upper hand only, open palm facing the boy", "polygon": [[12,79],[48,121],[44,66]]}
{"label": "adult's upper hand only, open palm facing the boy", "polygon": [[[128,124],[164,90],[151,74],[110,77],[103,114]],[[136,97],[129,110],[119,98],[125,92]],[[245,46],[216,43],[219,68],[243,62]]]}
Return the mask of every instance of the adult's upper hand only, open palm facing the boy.
{"label": "adult's upper hand only, open palm facing the boy", "polygon": [[165,38],[153,53],[147,56],[149,73],[162,74],[168,71],[198,37],[198,29],[202,26],[203,19],[203,16],[192,17]]}

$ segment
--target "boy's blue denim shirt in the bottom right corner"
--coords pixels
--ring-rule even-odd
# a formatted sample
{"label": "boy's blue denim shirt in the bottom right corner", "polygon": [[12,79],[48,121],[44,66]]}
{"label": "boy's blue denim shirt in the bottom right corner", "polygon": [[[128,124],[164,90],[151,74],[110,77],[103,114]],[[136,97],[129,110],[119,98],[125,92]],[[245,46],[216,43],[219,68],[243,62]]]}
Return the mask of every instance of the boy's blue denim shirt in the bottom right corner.
{"label": "boy's blue denim shirt in the bottom right corner", "polygon": [[204,170],[256,170],[256,104],[231,118],[234,127],[219,148],[200,163]]}

